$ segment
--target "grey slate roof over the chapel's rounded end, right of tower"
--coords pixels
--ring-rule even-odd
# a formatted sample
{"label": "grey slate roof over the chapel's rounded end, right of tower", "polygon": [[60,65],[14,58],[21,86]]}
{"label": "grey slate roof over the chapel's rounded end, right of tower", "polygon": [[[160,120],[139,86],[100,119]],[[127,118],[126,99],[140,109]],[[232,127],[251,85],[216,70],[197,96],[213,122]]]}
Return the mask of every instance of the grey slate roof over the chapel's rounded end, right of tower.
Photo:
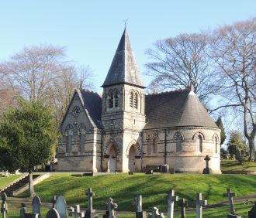
{"label": "grey slate roof over the chapel's rounded end, right of tower", "polygon": [[190,89],[147,95],[145,114],[145,129],[186,126],[218,128]]}

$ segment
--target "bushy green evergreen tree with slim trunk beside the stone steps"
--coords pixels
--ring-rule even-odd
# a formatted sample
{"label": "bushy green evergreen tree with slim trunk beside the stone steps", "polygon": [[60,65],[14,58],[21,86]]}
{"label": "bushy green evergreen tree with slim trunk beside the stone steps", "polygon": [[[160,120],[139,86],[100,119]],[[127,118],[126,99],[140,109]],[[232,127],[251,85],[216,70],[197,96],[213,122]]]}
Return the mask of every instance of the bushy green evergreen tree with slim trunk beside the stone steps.
{"label": "bushy green evergreen tree with slim trunk beside the stone steps", "polygon": [[0,168],[29,172],[29,192],[34,196],[33,168],[50,159],[56,144],[56,128],[49,108],[20,100],[7,111],[0,124]]}

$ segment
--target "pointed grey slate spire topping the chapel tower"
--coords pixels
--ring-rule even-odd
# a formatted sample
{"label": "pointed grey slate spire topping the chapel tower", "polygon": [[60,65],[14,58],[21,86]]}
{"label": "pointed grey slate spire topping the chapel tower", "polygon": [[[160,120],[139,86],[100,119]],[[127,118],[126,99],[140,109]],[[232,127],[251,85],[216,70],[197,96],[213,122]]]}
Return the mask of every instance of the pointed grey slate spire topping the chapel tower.
{"label": "pointed grey slate spire topping the chapel tower", "polygon": [[144,87],[126,28],[123,31],[123,36],[120,39],[109,73],[102,87],[120,83]]}

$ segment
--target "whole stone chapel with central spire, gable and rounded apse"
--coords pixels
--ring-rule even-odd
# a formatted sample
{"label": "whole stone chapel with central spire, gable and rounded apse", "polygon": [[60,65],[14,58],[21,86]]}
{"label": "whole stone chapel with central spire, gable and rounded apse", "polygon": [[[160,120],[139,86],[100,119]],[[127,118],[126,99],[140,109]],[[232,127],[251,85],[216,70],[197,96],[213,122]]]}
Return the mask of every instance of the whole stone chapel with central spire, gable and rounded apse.
{"label": "whole stone chapel with central spire, gable and rounded apse", "polygon": [[61,123],[60,171],[143,172],[169,165],[175,172],[220,172],[220,129],[189,87],[144,94],[126,29],[102,96],[75,90]]}

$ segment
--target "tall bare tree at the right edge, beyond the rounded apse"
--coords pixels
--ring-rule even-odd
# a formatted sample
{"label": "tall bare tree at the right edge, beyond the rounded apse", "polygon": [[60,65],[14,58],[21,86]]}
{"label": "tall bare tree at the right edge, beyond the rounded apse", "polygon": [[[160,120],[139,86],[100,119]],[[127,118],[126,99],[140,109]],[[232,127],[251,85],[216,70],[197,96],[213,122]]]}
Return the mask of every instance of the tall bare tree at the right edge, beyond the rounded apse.
{"label": "tall bare tree at the right edge, beyond the rounded apse", "polygon": [[235,107],[243,116],[244,136],[250,159],[255,159],[256,135],[256,18],[223,26],[213,32],[211,56],[216,63],[222,89],[220,108]]}

